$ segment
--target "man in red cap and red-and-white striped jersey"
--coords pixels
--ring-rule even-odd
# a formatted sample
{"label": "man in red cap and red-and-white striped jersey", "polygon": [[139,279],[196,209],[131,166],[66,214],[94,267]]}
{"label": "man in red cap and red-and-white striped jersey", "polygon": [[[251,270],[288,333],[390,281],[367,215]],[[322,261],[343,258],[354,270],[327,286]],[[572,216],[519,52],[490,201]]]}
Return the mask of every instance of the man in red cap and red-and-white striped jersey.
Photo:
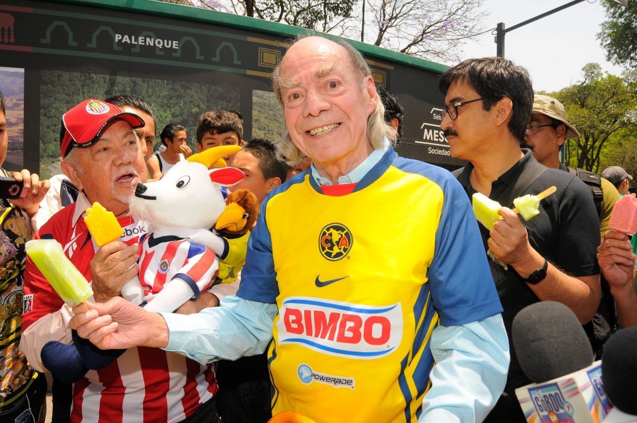
{"label": "man in red cap and red-and-white striped jersey", "polygon": [[[94,301],[120,295],[138,273],[140,234],[147,223],[129,212],[136,185],[146,182],[140,138],[134,131],[145,122],[114,104],[87,99],[64,113],[60,134],[62,169],[80,194],[56,213],[34,238],[52,238],[91,281]],[[113,212],[124,229],[120,240],[97,248],[83,217],[95,201]],[[20,349],[34,368],[45,371],[48,341],[73,339],[71,310],[31,261],[25,269],[29,306],[23,314]],[[210,294],[212,295],[212,294]],[[73,385],[70,420],[97,422],[216,422],[214,371],[183,355],[152,348],[126,350],[108,366],[90,370]]]}

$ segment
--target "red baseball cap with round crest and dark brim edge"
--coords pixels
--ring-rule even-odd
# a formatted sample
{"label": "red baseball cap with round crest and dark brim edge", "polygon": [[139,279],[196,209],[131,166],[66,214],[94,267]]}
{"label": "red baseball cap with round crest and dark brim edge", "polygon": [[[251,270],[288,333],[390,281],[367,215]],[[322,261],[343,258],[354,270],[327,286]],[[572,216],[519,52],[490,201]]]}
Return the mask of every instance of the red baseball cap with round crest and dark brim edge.
{"label": "red baseball cap with round crest and dark brim edge", "polygon": [[62,115],[60,152],[62,159],[73,147],[90,147],[113,119],[123,119],[132,129],[145,125],[141,117],[101,100],[87,99]]}

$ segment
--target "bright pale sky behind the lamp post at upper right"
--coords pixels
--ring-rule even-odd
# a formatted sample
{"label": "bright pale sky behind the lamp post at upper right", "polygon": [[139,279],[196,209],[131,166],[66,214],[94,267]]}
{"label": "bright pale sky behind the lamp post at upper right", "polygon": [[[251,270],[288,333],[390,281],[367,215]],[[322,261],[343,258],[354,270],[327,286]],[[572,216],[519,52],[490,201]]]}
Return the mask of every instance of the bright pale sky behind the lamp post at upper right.
{"label": "bright pale sky behind the lamp post at upper right", "polygon": [[[486,30],[504,22],[505,28],[512,27],[567,3],[570,1],[484,0],[489,17],[483,26]],[[582,68],[591,62],[619,76],[622,68],[606,61],[606,52],[596,38],[604,20],[605,9],[599,0],[582,1],[508,32],[505,57],[529,70],[536,91],[557,91],[582,80]],[[461,59],[496,55],[494,39],[489,31],[479,36],[477,42],[469,41]]]}

